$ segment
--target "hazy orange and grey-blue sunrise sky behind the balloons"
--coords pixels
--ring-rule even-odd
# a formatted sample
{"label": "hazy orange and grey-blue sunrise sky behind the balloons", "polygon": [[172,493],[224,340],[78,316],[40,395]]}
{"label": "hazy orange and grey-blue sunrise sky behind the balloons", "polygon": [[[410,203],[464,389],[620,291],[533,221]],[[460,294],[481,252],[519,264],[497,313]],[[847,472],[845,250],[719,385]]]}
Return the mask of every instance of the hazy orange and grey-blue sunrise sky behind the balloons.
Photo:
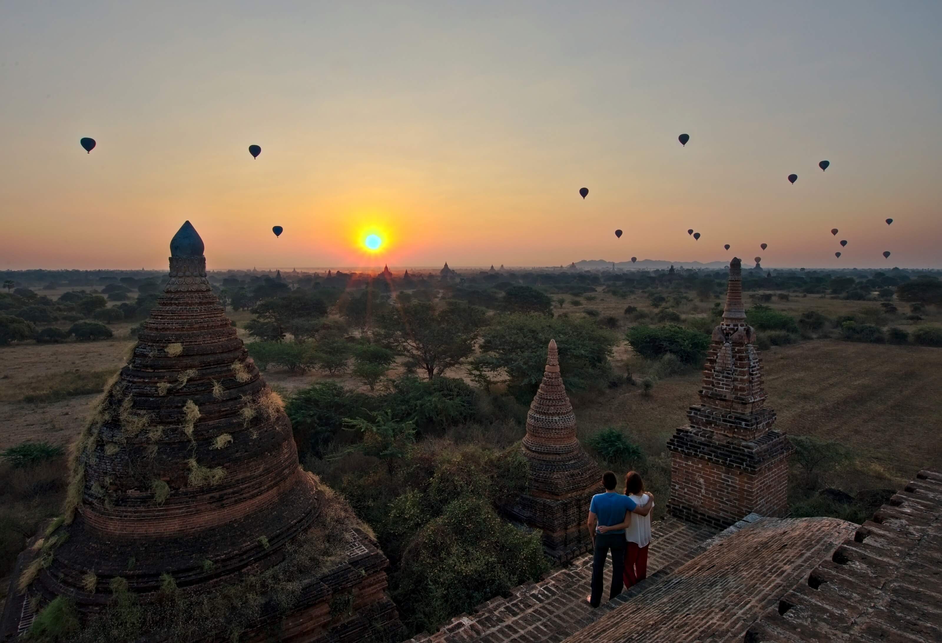
{"label": "hazy orange and grey-blue sunrise sky behind the balloons", "polygon": [[5,0],[0,268],[166,268],[187,219],[211,269],[942,267],[940,24],[937,0]]}

